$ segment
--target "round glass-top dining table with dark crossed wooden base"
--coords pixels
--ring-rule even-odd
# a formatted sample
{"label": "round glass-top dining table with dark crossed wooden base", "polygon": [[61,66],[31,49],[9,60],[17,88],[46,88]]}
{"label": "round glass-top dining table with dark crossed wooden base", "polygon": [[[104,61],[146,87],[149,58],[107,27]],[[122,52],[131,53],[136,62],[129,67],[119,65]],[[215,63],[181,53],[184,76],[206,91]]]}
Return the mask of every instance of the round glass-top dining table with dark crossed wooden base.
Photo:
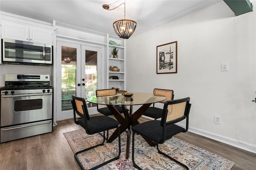
{"label": "round glass-top dining table with dark crossed wooden base", "polygon": [[[134,92],[132,93],[133,95],[131,97],[125,97],[124,94],[127,93],[116,93],[116,95],[102,97],[88,97],[87,101],[98,105],[106,105],[116,120],[120,123],[120,134],[122,134],[124,131],[127,131],[126,159],[128,159],[130,152],[131,128],[139,124],[138,119],[150,107],[150,105],[152,105],[152,103],[164,101],[166,97],[154,95],[153,93],[142,92]],[[134,105],[141,106],[135,112],[133,112]],[[124,114],[122,115],[114,106],[121,106]],[[127,107],[129,107],[129,109],[127,109]],[[118,129],[116,129],[107,139],[107,142],[111,143],[118,137],[118,135]],[[152,140],[144,136],[142,137],[146,140],[146,142],[148,142],[150,146],[155,146],[155,143]]]}

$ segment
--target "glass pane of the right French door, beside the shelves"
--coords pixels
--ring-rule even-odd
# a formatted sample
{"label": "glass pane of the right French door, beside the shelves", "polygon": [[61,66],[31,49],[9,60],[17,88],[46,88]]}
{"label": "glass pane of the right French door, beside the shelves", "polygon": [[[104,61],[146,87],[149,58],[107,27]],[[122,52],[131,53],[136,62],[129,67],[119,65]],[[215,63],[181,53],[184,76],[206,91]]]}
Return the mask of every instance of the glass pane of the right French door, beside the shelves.
{"label": "glass pane of the right French door, beside the shelves", "polygon": [[[85,51],[85,97],[96,95],[97,90],[97,51]],[[87,107],[95,107],[93,103],[86,103]]]}

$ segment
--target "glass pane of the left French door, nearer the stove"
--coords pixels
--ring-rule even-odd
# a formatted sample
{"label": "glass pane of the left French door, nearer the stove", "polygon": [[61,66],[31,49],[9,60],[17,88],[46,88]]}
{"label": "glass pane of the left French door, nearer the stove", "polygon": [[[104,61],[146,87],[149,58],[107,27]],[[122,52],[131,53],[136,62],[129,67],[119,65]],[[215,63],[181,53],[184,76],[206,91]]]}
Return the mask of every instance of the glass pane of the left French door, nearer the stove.
{"label": "glass pane of the left French door, nearer the stove", "polygon": [[76,48],[62,46],[61,79],[61,110],[71,110],[72,95],[76,95]]}

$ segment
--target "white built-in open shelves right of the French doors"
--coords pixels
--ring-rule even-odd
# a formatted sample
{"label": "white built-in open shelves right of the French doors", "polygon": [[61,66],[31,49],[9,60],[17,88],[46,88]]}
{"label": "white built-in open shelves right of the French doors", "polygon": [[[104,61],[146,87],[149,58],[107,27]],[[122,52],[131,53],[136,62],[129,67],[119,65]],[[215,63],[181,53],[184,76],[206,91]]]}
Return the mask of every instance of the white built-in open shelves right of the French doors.
{"label": "white built-in open shelves right of the French doors", "polygon": [[[108,71],[107,71],[107,88],[111,89],[112,87],[114,88],[119,88],[120,90],[126,90],[126,65],[125,65],[125,41],[124,39],[120,39],[116,36],[108,36],[108,45],[107,45],[107,54],[108,54],[108,59],[107,59],[107,66],[108,66]],[[109,41],[114,41],[118,45],[112,45],[109,44]],[[119,46],[120,45],[120,46]],[[118,50],[118,58],[113,58],[112,50],[116,48]],[[110,66],[113,68],[114,66],[118,67],[119,71],[111,71]],[[118,79],[110,79],[110,76],[116,76]]]}

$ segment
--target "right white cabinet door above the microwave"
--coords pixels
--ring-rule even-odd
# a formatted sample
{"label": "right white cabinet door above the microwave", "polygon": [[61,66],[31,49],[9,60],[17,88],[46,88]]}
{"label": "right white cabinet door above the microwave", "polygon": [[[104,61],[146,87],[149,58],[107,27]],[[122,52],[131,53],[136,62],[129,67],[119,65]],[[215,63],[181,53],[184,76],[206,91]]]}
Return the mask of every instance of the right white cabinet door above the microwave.
{"label": "right white cabinet door above the microwave", "polygon": [[52,44],[52,31],[30,27],[29,38],[30,42]]}

